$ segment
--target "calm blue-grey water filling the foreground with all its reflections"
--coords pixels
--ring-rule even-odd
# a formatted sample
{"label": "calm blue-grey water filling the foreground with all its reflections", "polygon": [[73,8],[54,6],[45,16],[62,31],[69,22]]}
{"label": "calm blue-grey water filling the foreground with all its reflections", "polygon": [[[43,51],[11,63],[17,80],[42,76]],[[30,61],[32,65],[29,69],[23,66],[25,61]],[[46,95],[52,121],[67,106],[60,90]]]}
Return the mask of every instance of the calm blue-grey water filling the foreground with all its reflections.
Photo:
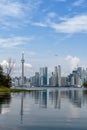
{"label": "calm blue-grey water filling the foreground with all its reflections", "polygon": [[87,130],[87,90],[1,93],[0,130]]}

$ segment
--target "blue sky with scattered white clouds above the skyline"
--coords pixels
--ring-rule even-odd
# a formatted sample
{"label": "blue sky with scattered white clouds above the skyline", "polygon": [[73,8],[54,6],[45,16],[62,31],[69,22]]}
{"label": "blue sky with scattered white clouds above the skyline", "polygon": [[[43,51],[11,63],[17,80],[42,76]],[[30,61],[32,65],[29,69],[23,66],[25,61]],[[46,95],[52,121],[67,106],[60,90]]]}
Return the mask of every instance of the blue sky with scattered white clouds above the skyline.
{"label": "blue sky with scattered white clouds above the skyline", "polygon": [[87,0],[0,0],[0,63],[12,58],[20,76],[23,51],[26,76],[87,67]]}

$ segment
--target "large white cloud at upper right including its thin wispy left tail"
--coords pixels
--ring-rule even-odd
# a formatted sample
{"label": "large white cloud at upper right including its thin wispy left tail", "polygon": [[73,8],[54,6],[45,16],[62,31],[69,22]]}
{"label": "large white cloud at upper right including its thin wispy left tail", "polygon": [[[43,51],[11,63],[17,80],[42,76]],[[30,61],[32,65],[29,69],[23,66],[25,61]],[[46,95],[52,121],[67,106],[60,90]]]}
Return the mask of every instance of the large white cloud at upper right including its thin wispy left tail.
{"label": "large white cloud at upper right including its thin wispy left tail", "polygon": [[71,18],[62,18],[60,20],[60,22],[55,23],[49,19],[45,22],[33,23],[33,25],[40,27],[49,27],[54,29],[57,33],[87,33],[87,15],[76,15]]}

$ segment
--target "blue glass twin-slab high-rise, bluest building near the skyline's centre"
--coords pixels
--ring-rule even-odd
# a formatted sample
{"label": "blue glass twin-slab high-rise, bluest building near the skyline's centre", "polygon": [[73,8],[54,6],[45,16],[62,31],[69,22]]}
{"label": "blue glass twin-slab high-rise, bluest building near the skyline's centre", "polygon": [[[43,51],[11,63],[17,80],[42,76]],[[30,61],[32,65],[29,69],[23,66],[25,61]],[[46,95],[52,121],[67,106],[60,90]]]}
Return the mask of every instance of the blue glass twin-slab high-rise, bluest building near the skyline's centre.
{"label": "blue glass twin-slab high-rise, bluest building near the skyline's centre", "polygon": [[47,85],[47,67],[40,68],[40,85]]}

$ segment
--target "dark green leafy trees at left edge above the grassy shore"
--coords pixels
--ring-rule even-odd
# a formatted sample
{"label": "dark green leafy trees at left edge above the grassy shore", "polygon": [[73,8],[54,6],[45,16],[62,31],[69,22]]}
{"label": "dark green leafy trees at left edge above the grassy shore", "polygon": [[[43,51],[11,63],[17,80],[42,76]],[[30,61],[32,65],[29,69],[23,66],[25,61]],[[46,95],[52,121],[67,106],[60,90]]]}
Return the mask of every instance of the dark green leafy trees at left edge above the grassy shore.
{"label": "dark green leafy trees at left edge above the grassy shore", "polygon": [[0,86],[7,88],[11,87],[11,77],[3,72],[3,67],[0,65]]}

